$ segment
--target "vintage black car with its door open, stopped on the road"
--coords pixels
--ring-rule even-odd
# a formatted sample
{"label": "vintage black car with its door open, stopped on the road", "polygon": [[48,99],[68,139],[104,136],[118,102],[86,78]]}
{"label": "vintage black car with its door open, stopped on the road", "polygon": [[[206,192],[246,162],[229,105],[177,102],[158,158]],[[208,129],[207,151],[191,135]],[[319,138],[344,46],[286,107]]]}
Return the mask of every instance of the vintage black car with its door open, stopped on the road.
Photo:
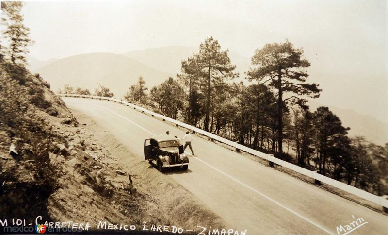
{"label": "vintage black car with its door open, stopped on the road", "polygon": [[179,154],[177,139],[169,135],[144,140],[144,157],[161,172],[165,168],[189,168],[189,158],[184,153]]}

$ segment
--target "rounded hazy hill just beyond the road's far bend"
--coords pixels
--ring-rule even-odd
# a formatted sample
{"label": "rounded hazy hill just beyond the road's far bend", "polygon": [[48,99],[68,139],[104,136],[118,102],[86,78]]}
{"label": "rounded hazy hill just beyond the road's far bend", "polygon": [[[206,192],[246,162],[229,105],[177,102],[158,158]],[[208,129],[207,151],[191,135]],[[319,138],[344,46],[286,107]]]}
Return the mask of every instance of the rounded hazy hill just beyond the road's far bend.
{"label": "rounded hazy hill just beyond the road's far bend", "polygon": [[124,55],[113,53],[90,53],[59,59],[37,69],[41,77],[51,84],[56,92],[64,84],[87,88],[91,92],[97,83],[108,87],[116,98],[121,99],[130,85],[137,82],[139,76],[146,80],[146,86],[162,83],[169,76],[165,72],[148,67]]}

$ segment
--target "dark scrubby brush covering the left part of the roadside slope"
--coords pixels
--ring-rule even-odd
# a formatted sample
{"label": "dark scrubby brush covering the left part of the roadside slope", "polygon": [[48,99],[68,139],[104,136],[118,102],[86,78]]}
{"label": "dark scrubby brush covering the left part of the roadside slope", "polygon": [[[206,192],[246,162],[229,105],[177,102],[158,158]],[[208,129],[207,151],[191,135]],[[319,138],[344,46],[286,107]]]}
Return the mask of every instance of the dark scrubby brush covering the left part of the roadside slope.
{"label": "dark scrubby brush covering the left part of the roadside slope", "polygon": [[[65,218],[86,221],[91,219],[90,215],[71,214],[61,207],[78,208],[93,199],[96,204],[89,205],[97,210],[94,217],[105,213],[111,221],[124,219],[120,214],[109,216],[110,213],[97,206],[110,208],[104,198],[115,192],[132,198],[133,204],[139,201],[138,196],[125,191],[130,189],[129,185],[117,191],[107,183],[106,175],[97,174],[98,168],[93,168],[100,163],[83,152],[85,146],[71,142],[74,137],[59,131],[63,129],[61,126],[76,127],[79,123],[63,101],[49,90],[49,84],[23,67],[3,63],[0,99],[0,175],[5,179],[0,201],[7,205],[1,207],[1,215],[29,219],[42,215],[44,221]],[[66,195],[76,191],[87,197],[65,200]]]}

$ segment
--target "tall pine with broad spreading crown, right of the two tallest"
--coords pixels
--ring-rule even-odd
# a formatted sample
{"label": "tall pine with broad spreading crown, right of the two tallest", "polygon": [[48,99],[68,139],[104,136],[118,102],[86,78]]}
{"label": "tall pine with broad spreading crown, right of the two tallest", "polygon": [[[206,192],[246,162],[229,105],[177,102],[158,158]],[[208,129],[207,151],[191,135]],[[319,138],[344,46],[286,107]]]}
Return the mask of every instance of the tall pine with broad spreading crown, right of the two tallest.
{"label": "tall pine with broad spreading crown, right of the two tallest", "polygon": [[319,97],[317,84],[306,84],[308,74],[303,68],[309,67],[310,63],[302,59],[303,50],[294,49],[293,45],[285,43],[266,44],[262,49],[255,51],[252,64],[256,68],[248,71],[249,80],[258,80],[277,90],[277,120],[278,120],[278,152],[283,153],[283,111],[287,104],[305,106],[305,99],[291,96],[284,99],[283,94],[294,93],[307,95],[312,98]]}

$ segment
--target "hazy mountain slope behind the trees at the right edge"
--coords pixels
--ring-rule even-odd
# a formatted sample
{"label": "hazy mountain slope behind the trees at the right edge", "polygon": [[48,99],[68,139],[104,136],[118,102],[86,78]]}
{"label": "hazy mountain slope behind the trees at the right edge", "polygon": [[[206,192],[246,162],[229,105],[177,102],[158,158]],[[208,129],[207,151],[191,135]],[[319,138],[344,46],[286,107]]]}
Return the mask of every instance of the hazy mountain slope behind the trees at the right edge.
{"label": "hazy mountain slope behind the trees at the right edge", "polygon": [[[310,111],[314,112],[319,106],[315,101],[309,101]],[[349,136],[362,135],[375,144],[388,143],[388,124],[369,115],[362,115],[353,109],[341,109],[335,106],[327,106],[342,121],[344,127],[350,127]]]}

